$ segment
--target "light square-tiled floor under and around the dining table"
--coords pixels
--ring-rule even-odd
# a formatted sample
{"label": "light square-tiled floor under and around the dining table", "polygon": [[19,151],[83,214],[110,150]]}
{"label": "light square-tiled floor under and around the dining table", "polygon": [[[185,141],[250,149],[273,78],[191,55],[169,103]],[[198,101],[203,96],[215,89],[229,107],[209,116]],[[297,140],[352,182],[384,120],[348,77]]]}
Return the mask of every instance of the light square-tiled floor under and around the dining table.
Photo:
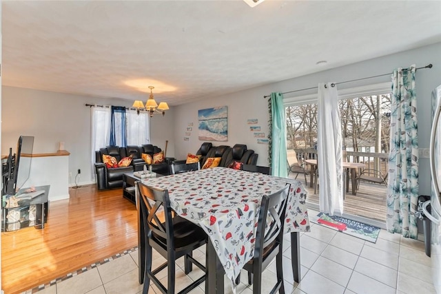
{"label": "light square-tiled floor under and around the dining table", "polygon": [[[300,235],[301,275],[300,284],[294,283],[291,271],[289,235],[284,240],[285,293],[294,294],[387,294],[387,293],[435,293],[431,280],[431,260],[424,253],[424,242],[401,238],[400,235],[381,230],[376,244],[350,235],[333,231],[311,223],[311,232]],[[205,249],[194,256],[205,260]],[[165,259],[156,253],[153,267]],[[185,275],[183,260],[176,262],[176,286],[180,291],[202,273],[196,266]],[[274,281],[276,265],[270,264],[263,275],[263,291],[269,292]],[[167,284],[165,271],[162,272]],[[138,251],[114,258],[110,262],[97,264],[88,271],[68,279],[52,281],[39,294],[110,294],[142,293],[138,283]],[[201,284],[191,293],[204,293]],[[269,288],[267,288],[269,287]],[[232,288],[225,279],[225,292]],[[25,293],[32,293],[26,291]],[[149,293],[160,293],[155,286]],[[247,285],[247,275],[242,274],[236,293],[251,294],[252,286]]]}

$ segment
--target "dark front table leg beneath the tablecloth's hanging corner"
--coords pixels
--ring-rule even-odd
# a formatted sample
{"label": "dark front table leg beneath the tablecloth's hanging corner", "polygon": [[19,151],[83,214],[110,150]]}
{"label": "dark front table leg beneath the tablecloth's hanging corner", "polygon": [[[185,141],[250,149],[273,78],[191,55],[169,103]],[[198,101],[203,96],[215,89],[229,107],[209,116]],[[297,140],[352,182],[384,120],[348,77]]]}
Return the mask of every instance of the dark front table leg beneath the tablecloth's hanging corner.
{"label": "dark front table leg beneath the tablecloth's hanging corner", "polygon": [[218,259],[212,240],[208,238],[205,277],[205,293],[224,293],[223,277],[225,271]]}

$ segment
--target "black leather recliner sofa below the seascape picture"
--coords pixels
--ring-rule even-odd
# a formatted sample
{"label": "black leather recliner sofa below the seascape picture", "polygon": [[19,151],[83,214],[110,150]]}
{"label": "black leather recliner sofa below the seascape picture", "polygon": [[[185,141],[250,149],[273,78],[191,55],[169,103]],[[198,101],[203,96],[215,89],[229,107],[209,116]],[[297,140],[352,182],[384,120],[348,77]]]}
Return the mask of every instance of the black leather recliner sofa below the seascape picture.
{"label": "black leather recliner sofa below the seascape picture", "polygon": [[256,165],[258,154],[254,150],[247,149],[247,145],[236,144],[233,147],[226,145],[213,146],[212,143],[202,143],[201,147],[196,151],[196,155],[201,155],[201,167],[203,167],[207,158],[220,157],[220,167],[229,167],[234,162],[242,162],[245,165]]}

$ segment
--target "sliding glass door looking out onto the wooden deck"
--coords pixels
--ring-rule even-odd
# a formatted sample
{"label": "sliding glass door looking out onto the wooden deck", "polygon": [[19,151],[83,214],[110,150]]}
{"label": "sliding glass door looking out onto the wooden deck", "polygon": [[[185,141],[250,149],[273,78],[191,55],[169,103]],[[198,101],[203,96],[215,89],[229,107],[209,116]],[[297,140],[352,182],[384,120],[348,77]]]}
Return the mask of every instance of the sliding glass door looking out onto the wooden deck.
{"label": "sliding glass door looking out onto the wooden deck", "polygon": [[[353,216],[384,222],[386,217],[387,160],[389,154],[391,95],[388,92],[342,98],[339,101],[344,161],[358,162],[347,169],[344,210]],[[307,173],[307,202],[318,207],[320,187],[314,185],[317,148],[317,103],[310,100],[287,105],[287,157]],[[311,160],[312,159],[312,160]],[[349,165],[349,164],[348,164]],[[296,177],[292,169],[289,177]],[[360,176],[361,175],[361,176]],[[318,174],[317,176],[320,176]],[[352,189],[354,186],[354,189]]]}

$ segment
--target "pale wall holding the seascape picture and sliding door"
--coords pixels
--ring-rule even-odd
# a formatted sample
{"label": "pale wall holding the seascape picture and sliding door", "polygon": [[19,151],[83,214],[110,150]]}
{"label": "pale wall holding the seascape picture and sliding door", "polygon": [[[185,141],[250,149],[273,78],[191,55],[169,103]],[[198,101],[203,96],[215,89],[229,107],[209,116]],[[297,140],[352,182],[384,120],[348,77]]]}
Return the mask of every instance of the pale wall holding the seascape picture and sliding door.
{"label": "pale wall holding the seascape picture and sliding door", "polygon": [[[187,152],[196,152],[201,146],[202,141],[198,140],[197,122],[198,109],[205,109],[215,106],[228,106],[228,142],[226,145],[235,143],[247,144],[249,149],[254,149],[259,154],[258,165],[267,165],[267,145],[258,145],[252,132],[249,132],[246,125],[247,118],[258,118],[262,132],[267,134],[267,99],[264,95],[271,92],[289,92],[309,87],[316,87],[323,82],[342,82],[350,81],[367,76],[376,76],[392,72],[396,67],[409,67],[415,63],[417,67],[423,67],[429,63],[433,64],[432,69],[418,70],[416,73],[416,92],[418,98],[418,140],[420,148],[429,147],[429,136],[431,129],[431,91],[441,84],[441,43],[425,46],[416,50],[409,50],[383,56],[369,61],[353,63],[334,70],[325,70],[316,74],[300,76],[278,83],[272,83],[250,90],[225,94],[223,96],[205,97],[204,100],[179,105],[175,111],[174,140],[176,142],[176,156],[185,158]],[[296,65],[287,65],[296,66]],[[391,81],[390,76],[369,78],[363,81],[344,83],[337,85],[338,89],[358,87],[374,83],[384,83]],[[314,90],[297,92],[296,95],[311,94]],[[287,94],[285,98],[294,96]],[[194,129],[189,141],[184,141],[185,127],[187,123],[194,123]],[[214,145],[221,145],[221,142],[214,142]],[[420,194],[429,195],[430,193],[430,174],[429,160],[420,158]]]}

